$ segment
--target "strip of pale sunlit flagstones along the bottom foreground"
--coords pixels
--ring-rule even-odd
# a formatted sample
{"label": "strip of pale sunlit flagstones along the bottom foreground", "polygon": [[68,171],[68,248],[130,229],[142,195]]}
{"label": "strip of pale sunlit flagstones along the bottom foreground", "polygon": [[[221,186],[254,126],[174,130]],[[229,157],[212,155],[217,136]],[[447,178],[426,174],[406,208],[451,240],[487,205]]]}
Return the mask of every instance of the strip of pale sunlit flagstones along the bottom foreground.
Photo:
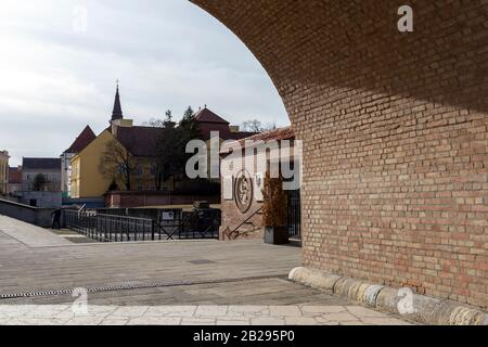
{"label": "strip of pale sunlit flagstones along the bottom foreground", "polygon": [[2,325],[404,325],[357,306],[0,306]]}

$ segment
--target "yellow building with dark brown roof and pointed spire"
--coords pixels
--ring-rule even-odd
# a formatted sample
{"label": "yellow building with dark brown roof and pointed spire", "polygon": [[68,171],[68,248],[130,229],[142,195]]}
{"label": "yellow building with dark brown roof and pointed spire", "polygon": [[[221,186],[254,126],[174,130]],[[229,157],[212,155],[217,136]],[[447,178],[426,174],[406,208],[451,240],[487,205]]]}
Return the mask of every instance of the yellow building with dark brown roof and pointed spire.
{"label": "yellow building with dark brown roof and pointed spire", "polygon": [[[160,128],[134,127],[132,120],[124,119],[117,88],[111,127],[70,159],[70,196],[98,198],[110,189],[156,190],[155,157],[160,132]],[[107,152],[114,152],[114,157],[102,162]],[[130,157],[130,189],[124,175],[127,170],[124,167],[125,156]],[[101,167],[101,163],[105,163],[104,167]],[[160,187],[171,188],[172,184]]]}

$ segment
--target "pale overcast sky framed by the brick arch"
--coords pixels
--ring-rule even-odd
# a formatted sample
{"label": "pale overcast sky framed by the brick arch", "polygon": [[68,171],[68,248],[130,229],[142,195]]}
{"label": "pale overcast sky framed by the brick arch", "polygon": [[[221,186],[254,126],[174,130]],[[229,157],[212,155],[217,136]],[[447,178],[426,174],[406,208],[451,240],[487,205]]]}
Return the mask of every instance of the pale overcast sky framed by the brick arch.
{"label": "pale overcast sky framed by the brick arch", "polygon": [[259,62],[185,0],[1,0],[0,43],[0,150],[11,165],[59,156],[86,125],[102,131],[117,79],[137,125],[204,104],[236,125],[288,124]]}

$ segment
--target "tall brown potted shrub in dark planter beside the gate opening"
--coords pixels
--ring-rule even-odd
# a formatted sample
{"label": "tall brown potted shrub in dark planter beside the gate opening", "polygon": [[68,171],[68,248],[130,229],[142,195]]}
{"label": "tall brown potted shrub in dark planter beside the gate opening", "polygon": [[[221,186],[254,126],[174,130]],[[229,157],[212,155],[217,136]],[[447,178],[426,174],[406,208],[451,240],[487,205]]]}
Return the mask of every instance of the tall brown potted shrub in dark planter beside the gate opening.
{"label": "tall brown potted shrub in dark planter beside the gate opening", "polygon": [[267,172],[262,194],[265,242],[274,245],[288,243],[287,195],[283,190],[283,178],[271,178]]}

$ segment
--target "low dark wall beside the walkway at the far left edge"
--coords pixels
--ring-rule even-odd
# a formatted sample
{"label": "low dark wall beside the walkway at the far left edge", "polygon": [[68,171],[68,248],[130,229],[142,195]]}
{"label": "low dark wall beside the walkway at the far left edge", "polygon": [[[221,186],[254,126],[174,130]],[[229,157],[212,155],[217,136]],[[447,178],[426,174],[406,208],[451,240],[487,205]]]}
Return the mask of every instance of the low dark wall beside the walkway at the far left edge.
{"label": "low dark wall beside the walkway at the far left edge", "polygon": [[0,215],[15,218],[41,228],[51,227],[51,214],[54,208],[36,208],[7,200],[0,200]]}

